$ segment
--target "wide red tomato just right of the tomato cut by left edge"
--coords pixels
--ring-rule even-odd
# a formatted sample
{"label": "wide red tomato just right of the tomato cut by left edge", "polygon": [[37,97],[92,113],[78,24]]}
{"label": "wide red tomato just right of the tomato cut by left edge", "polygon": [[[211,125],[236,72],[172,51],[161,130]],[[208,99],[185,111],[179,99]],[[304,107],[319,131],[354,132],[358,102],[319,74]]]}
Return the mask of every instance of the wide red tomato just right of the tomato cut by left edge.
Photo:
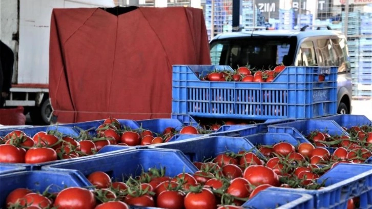
{"label": "wide red tomato just right of the tomato cut by left edge", "polygon": [[31,148],[25,155],[25,163],[42,163],[54,160],[57,160],[57,153],[52,148]]}

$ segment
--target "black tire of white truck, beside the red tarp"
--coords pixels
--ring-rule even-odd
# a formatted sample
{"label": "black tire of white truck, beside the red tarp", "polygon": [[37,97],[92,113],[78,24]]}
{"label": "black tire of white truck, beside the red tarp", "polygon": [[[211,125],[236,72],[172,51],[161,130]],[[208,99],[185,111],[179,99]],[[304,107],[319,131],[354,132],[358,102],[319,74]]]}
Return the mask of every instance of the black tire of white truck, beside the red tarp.
{"label": "black tire of white truck, beside the red tarp", "polygon": [[50,124],[50,116],[52,114],[52,106],[50,105],[49,99],[44,99],[40,107],[35,107],[30,111],[30,117],[33,124]]}

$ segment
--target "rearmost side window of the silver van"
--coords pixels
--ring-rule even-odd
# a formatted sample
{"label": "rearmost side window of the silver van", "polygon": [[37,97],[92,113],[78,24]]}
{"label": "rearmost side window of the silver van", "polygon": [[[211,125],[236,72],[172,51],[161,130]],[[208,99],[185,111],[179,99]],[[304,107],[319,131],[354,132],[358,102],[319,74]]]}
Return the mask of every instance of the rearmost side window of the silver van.
{"label": "rearmost side window of the silver van", "polygon": [[332,38],[335,65],[339,66],[338,72],[348,72],[346,40],[343,38]]}

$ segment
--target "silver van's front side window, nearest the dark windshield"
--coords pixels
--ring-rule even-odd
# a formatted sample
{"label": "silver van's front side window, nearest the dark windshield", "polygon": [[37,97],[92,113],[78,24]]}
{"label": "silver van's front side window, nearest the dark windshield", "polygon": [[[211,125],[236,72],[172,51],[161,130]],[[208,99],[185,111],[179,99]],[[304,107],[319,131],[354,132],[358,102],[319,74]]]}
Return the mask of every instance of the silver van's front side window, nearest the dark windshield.
{"label": "silver van's front side window, nearest the dark windshield", "polygon": [[317,66],[313,41],[306,41],[301,44],[295,66]]}

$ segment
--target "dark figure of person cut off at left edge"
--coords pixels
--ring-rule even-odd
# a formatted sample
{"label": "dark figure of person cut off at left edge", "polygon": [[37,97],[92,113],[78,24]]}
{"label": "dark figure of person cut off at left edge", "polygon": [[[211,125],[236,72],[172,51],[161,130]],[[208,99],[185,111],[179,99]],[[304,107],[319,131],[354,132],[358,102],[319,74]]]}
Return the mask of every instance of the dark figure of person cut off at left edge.
{"label": "dark figure of person cut off at left edge", "polygon": [[13,51],[0,40],[0,108],[4,107],[12,85],[14,65]]}

